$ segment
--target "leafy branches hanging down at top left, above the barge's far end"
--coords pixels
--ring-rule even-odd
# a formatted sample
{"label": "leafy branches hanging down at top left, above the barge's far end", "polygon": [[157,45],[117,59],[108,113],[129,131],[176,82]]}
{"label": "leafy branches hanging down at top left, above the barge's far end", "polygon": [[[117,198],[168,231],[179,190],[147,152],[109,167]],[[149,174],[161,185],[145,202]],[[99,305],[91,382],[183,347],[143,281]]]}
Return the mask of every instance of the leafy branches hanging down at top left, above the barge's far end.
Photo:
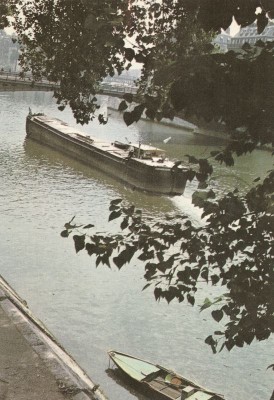
{"label": "leafy branches hanging down at top left, above the barge's far end", "polygon": [[24,46],[20,56],[24,72],[60,83],[54,94],[59,109],[69,105],[77,122],[88,123],[98,107],[94,96],[102,79],[121,72],[126,59],[134,55],[124,47],[126,2],[15,3],[14,26]]}

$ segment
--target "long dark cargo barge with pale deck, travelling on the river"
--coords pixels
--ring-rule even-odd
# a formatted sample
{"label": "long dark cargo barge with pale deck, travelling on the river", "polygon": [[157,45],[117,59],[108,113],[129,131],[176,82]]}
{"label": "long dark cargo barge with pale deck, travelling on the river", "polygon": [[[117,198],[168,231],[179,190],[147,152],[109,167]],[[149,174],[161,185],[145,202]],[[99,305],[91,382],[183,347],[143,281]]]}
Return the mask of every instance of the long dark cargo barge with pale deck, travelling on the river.
{"label": "long dark cargo barge with pale deck, travelling on the river", "polygon": [[165,152],[144,144],[106,142],[44,114],[28,115],[27,137],[59,150],[127,183],[133,188],[165,195],[183,194],[186,168]]}

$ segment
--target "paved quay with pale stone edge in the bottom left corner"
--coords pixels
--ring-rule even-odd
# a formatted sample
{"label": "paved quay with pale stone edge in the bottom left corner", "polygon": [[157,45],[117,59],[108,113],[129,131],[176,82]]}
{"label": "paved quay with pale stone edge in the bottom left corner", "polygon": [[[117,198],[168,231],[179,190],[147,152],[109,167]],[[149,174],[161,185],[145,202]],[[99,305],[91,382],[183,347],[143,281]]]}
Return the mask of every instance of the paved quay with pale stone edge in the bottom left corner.
{"label": "paved quay with pale stone edge in the bottom left corner", "polygon": [[0,276],[0,399],[107,400]]}

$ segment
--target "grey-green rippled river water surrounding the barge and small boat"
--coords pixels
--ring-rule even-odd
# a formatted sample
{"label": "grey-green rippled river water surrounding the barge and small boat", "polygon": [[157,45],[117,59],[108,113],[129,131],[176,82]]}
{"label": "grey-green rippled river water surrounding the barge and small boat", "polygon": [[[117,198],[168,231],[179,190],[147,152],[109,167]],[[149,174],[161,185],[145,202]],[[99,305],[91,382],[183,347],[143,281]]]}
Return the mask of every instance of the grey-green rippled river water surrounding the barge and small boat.
{"label": "grey-green rippled river water surrounding the barge and small boat", "polygon": [[[273,373],[266,368],[273,363],[273,341],[213,355],[204,339],[219,327],[209,312],[200,313],[187,304],[155,302],[152,291],[142,291],[140,262],[134,260],[121,271],[96,268],[86,254],[75,254],[72,239],[60,236],[73,216],[78,222],[94,223],[100,231],[115,231],[117,225],[107,223],[108,206],[118,197],[134,202],[155,219],[179,211],[199,221],[200,211],[191,205],[194,184],[184,196],[172,199],[132,192],[98,171],[26,140],[29,107],[74,124],[70,111],[58,111],[50,93],[0,93],[0,274],[110,400],[146,399],[109,370],[106,352],[110,349],[170,367],[228,400],[268,400]],[[176,158],[204,156],[221,145],[212,138],[150,123],[127,128],[115,111],[109,112],[107,125],[94,122],[84,130],[110,140],[140,137],[165,147]],[[164,145],[169,136],[171,141]],[[246,188],[270,167],[270,154],[257,151],[228,171],[217,167],[212,185],[219,191]],[[211,293],[206,288],[200,304]]]}

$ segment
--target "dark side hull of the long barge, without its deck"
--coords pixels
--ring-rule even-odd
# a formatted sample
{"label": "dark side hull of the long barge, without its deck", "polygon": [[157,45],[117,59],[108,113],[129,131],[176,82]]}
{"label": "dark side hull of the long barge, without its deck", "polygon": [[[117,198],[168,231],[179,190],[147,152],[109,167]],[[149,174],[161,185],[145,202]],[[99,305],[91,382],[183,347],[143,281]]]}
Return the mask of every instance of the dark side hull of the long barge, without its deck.
{"label": "dark side hull of the long barge, without its deck", "polygon": [[168,168],[156,163],[148,165],[135,158],[108,152],[88,140],[79,140],[50,126],[46,117],[28,116],[26,132],[27,137],[95,167],[133,188],[165,195],[179,195],[184,192],[186,178],[183,168]]}

